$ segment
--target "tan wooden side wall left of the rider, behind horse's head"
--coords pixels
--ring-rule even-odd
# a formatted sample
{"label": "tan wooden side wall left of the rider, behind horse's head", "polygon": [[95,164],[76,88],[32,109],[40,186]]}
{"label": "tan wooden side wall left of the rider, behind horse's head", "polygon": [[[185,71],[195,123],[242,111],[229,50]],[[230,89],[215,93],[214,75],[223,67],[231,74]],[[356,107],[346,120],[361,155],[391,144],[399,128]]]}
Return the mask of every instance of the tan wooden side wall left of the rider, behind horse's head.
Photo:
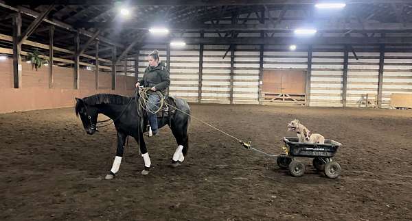
{"label": "tan wooden side wall left of the rider, behind horse's head", "polygon": [[[111,93],[130,95],[134,90],[134,77],[116,76],[118,88],[111,90],[111,75],[100,73],[100,90],[95,90],[95,72],[80,70],[80,88],[73,90],[73,68],[54,66],[54,83],[49,88],[49,67],[36,70],[22,63],[22,87],[13,88],[12,59],[0,61],[0,113],[33,109],[72,107],[75,97]],[[106,89],[105,89],[106,88]]]}

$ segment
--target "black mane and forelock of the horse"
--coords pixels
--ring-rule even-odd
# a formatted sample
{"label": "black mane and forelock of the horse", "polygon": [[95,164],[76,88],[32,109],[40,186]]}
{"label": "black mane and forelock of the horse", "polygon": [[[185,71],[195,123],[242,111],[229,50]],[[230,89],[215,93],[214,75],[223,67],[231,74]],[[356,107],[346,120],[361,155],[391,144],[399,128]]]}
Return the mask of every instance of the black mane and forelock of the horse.
{"label": "black mane and forelock of the horse", "polygon": [[[85,105],[126,105],[130,101],[130,96],[122,96],[118,94],[95,94],[91,96],[86,96],[82,100]],[[78,113],[80,112],[80,108],[80,103],[76,103],[76,115],[78,115]]]}

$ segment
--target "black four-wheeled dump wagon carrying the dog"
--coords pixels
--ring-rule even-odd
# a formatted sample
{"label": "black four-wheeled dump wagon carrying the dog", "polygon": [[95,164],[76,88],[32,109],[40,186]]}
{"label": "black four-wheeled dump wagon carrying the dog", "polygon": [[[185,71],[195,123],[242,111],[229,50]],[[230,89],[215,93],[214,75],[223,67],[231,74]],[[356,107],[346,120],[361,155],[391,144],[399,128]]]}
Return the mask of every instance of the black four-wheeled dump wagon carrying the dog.
{"label": "black four-wheeled dump wagon carrying the dog", "polygon": [[296,157],[313,158],[312,164],[318,171],[323,171],[326,177],[336,178],[341,173],[341,166],[333,161],[338,147],[342,144],[334,140],[325,140],[325,144],[310,144],[299,142],[298,138],[283,138],[285,154],[276,159],[277,166],[289,169],[293,177],[301,177],[305,173],[305,165]]}

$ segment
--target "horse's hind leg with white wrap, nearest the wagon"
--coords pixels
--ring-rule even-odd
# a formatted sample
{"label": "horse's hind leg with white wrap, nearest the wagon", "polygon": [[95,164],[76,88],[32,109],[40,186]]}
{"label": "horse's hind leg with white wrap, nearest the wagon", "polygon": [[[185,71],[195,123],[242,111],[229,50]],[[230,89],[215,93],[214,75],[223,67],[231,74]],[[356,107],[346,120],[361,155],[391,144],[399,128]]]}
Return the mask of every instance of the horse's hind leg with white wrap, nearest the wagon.
{"label": "horse's hind leg with white wrap, nearest the wagon", "polygon": [[170,125],[170,129],[172,129],[178,145],[172,157],[173,167],[179,166],[183,160],[185,160],[185,155],[189,148],[189,135],[187,134],[188,121],[189,118],[186,116],[177,116],[172,120],[172,125]]}

